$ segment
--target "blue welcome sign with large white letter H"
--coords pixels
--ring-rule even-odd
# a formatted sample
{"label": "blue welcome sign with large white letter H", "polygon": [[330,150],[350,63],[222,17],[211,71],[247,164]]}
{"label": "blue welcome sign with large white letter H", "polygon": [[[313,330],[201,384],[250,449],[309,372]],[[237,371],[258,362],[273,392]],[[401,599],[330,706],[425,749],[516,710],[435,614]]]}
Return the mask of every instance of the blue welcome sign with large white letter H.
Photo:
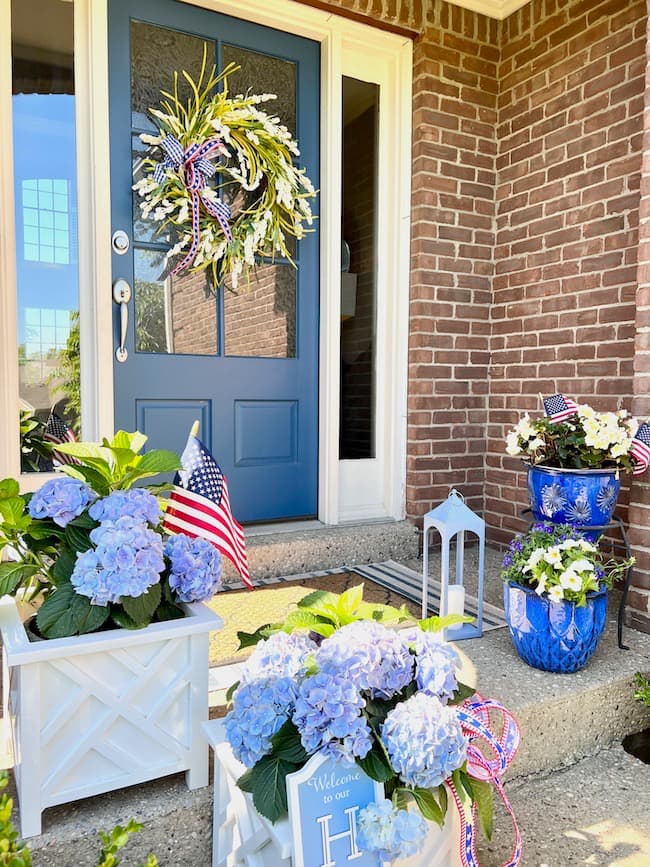
{"label": "blue welcome sign with large white letter H", "polygon": [[384,797],[383,786],[356,765],[312,756],[287,777],[294,867],[381,867],[376,855],[359,850],[357,817]]}

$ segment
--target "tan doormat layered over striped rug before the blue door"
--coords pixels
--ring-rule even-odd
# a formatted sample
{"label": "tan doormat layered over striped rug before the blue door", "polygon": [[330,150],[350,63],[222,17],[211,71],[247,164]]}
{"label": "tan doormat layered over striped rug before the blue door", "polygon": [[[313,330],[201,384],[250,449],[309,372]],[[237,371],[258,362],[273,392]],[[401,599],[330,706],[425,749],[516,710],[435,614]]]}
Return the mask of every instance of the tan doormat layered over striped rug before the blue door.
{"label": "tan doormat layered over striped rug before the blue door", "polygon": [[[309,575],[266,578],[255,582],[255,590],[243,584],[232,584],[217,593],[209,604],[224,621],[224,628],[210,638],[210,666],[243,661],[250,650],[238,651],[237,632],[254,632],[265,623],[283,620],[297,603],[313,590],[343,593],[349,587],[363,583],[364,598],[382,605],[406,605],[414,617],[421,616],[422,576],[406,566],[388,560],[341,569],[330,569]],[[438,612],[440,585],[429,582],[430,613]],[[476,613],[476,599],[467,596],[468,614]],[[503,611],[492,605],[483,607],[483,629],[505,626]]]}

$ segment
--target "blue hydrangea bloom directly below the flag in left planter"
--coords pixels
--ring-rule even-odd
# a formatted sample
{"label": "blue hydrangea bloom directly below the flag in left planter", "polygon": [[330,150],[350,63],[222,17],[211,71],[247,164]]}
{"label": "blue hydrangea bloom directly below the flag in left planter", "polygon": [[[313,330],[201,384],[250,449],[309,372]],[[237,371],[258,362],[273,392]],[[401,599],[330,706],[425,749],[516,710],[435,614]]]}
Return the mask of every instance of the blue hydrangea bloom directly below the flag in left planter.
{"label": "blue hydrangea bloom directly below the flag in left planter", "polygon": [[165,545],[169,557],[169,586],[179,602],[212,599],[221,584],[221,555],[205,539],[184,533],[171,536]]}

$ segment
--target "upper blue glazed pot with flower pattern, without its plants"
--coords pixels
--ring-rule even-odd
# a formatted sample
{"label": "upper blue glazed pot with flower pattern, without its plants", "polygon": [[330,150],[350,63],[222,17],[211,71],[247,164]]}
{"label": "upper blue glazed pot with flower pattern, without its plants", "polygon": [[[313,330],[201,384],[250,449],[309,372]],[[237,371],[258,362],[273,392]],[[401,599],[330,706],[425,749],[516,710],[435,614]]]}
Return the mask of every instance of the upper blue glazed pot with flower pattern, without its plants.
{"label": "upper blue glazed pot with flower pattern, without its plants", "polygon": [[[528,501],[538,521],[594,527],[612,520],[621,480],[616,470],[528,467]],[[589,538],[594,541],[600,532]]]}

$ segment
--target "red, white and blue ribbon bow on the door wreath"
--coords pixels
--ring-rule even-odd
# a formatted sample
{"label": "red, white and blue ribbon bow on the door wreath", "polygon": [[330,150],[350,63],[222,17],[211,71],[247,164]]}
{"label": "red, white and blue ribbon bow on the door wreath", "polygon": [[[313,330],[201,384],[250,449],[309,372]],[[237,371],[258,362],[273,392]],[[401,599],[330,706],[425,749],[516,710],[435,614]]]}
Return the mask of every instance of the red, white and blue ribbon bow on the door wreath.
{"label": "red, white and blue ribbon bow on the door wreath", "polygon": [[[156,183],[163,183],[167,170],[173,169],[179,173],[192,201],[192,243],[183,261],[179,262],[171,272],[171,276],[174,277],[179,271],[191,265],[196,256],[199,247],[201,204],[218,221],[228,243],[232,241],[229,225],[230,208],[221,199],[211,200],[202,195],[206,182],[215,173],[215,167],[208,157],[217,152],[227,151],[219,138],[209,138],[203,144],[194,143],[183,150],[183,146],[173,135],[165,136],[160,147],[165,153],[165,159],[156,165],[153,173],[154,180]],[[183,169],[182,173],[181,169]]]}

